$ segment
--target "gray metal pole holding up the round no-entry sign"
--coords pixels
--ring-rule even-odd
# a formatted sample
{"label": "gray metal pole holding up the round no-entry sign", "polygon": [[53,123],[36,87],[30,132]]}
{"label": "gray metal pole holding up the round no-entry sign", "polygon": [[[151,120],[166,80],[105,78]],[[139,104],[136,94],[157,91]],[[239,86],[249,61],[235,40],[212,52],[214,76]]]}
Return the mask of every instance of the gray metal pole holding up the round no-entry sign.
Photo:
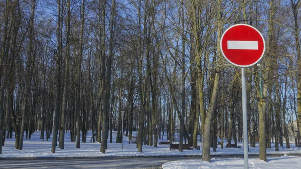
{"label": "gray metal pole holding up the round no-entry sign", "polygon": [[241,68],[241,90],[242,90],[242,123],[243,123],[243,154],[245,169],[249,168],[248,157],[248,125],[247,125],[247,101],[246,101],[246,78],[245,70]]}

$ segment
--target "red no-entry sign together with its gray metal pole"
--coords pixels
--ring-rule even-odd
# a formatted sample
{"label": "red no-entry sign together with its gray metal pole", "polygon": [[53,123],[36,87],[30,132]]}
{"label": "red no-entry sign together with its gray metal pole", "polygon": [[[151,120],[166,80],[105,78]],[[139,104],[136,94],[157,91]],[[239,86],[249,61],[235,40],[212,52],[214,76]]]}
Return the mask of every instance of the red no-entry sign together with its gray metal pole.
{"label": "red no-entry sign together with its gray metal pole", "polygon": [[249,168],[248,126],[245,67],[256,64],[263,56],[265,43],[260,32],[249,25],[237,24],[228,28],[222,35],[220,47],[224,57],[241,68],[241,100],[243,123],[244,165]]}

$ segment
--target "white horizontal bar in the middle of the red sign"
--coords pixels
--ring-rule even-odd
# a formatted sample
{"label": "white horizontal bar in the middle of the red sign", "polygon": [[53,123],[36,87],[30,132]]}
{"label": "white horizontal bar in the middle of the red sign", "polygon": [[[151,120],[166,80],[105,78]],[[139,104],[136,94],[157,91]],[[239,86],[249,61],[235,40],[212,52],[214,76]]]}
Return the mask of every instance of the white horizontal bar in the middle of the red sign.
{"label": "white horizontal bar in the middle of the red sign", "polygon": [[258,50],[258,41],[227,41],[228,49]]}

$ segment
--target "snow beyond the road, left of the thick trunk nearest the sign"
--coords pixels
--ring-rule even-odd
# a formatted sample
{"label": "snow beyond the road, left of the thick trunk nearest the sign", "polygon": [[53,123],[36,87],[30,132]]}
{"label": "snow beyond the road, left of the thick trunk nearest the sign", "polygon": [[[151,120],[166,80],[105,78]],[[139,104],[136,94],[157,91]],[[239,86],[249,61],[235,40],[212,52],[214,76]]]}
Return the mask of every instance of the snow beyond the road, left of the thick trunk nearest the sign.
{"label": "snow beyond the road, left of the thick trunk nearest the sign", "polygon": [[[113,132],[112,143],[109,143],[106,153],[100,152],[100,143],[90,142],[92,131],[88,131],[87,142],[80,142],[80,148],[75,148],[76,143],[70,141],[70,134],[65,133],[64,149],[56,149],[56,153],[51,153],[52,139],[48,141],[40,139],[40,131],[36,131],[31,140],[24,139],[23,150],[15,149],[15,138],[6,139],[3,146],[1,158],[11,157],[101,157],[101,156],[168,156],[168,155],[200,155],[200,150],[184,150],[182,153],[178,150],[170,150],[169,145],[154,146],[143,145],[142,152],[138,152],[136,144],[128,144],[128,137],[123,136],[123,151],[121,143],[116,142],[116,132]],[[133,132],[135,136],[136,132]],[[45,136],[46,138],[46,136]],[[51,135],[52,138],[52,135]],[[166,138],[166,136],[165,136]],[[165,141],[167,141],[165,139]],[[58,147],[58,146],[57,146]]]}

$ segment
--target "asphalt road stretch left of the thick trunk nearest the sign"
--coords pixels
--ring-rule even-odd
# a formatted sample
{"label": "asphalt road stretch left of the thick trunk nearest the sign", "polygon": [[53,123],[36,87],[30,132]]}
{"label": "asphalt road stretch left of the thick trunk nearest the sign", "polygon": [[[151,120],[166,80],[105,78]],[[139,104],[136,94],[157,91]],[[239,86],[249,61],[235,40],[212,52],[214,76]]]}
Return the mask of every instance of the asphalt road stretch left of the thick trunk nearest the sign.
{"label": "asphalt road stretch left of the thick trunk nearest the sign", "polygon": [[0,168],[161,168],[173,160],[200,159],[200,157],[121,158],[121,159],[2,159]]}

